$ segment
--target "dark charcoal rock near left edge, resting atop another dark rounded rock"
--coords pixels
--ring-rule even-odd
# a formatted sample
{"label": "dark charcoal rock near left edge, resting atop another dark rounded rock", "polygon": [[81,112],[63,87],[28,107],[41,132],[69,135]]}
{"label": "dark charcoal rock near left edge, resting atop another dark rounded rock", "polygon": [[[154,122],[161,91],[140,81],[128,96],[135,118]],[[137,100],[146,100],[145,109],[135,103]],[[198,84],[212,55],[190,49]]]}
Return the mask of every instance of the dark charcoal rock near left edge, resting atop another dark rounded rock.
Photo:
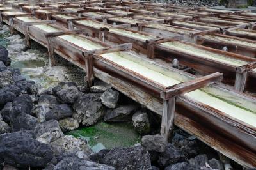
{"label": "dark charcoal rock near left edge, resting atop another dark rounded rock", "polygon": [[25,112],[26,114],[31,114],[32,108],[33,102],[31,100],[31,97],[29,97],[29,95],[20,95],[19,97],[15,98],[12,102],[10,118],[13,116],[14,119],[22,112]]}

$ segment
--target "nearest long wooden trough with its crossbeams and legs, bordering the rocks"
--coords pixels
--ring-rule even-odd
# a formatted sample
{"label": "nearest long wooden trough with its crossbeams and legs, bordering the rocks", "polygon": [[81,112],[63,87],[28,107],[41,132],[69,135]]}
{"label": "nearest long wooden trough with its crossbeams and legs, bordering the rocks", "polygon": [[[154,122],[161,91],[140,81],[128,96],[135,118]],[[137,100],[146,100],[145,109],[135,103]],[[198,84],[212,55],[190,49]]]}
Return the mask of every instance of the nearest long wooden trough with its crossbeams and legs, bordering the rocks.
{"label": "nearest long wooden trough with its crossbeams and legs, bordering the rocks", "polygon": [[[88,86],[98,77],[162,115],[161,134],[166,139],[174,122],[244,167],[256,166],[256,99],[220,84],[221,73],[195,77],[127,51],[131,43],[111,46],[84,36],[85,29],[70,31],[52,24],[54,20],[23,13],[19,17],[1,14],[6,24],[25,34],[28,47],[30,39],[47,47],[52,66],[58,54],[86,70]],[[157,41],[164,43],[161,39],[147,42]],[[238,72],[253,66],[244,65]]]}

